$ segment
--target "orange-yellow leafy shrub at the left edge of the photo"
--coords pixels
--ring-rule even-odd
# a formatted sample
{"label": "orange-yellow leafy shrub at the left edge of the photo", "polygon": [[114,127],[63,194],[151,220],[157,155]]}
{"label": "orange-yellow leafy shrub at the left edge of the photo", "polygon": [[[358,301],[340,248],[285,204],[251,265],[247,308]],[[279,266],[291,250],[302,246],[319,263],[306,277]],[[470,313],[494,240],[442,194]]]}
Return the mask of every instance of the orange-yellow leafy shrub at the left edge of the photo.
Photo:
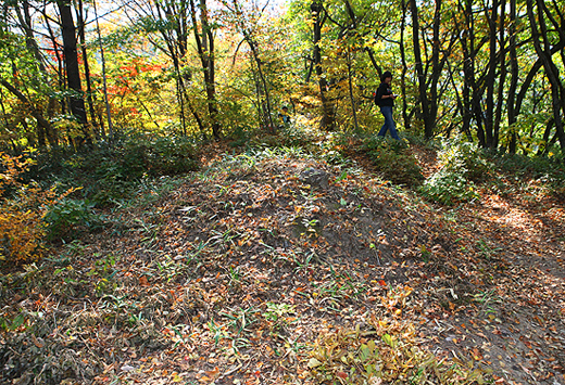
{"label": "orange-yellow leafy shrub at the left edge of the photo", "polygon": [[33,161],[1,154],[0,259],[25,262],[40,256],[46,235],[43,217],[54,202],[54,190],[23,184],[17,177]]}

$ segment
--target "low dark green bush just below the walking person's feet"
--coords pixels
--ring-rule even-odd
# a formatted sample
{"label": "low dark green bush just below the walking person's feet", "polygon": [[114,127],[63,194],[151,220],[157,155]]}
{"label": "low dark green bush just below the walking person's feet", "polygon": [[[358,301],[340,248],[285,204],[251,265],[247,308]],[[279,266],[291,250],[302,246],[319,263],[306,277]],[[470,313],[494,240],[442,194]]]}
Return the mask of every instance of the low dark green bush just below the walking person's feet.
{"label": "low dark green bush just below the walking person's feet", "polygon": [[392,182],[413,185],[424,179],[418,161],[405,142],[372,136],[365,140],[363,147],[378,169]]}

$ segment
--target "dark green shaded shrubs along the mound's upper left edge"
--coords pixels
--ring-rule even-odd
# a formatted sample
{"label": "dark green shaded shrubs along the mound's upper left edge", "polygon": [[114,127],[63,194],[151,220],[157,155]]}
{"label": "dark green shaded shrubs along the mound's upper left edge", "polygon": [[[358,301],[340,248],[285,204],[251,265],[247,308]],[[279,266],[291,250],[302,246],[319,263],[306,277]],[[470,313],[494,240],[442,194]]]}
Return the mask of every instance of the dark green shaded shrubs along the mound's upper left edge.
{"label": "dark green shaded shrubs along the mound's upper left edge", "polygon": [[101,143],[88,152],[52,151],[35,157],[38,166],[26,178],[81,188],[81,197],[97,206],[130,196],[146,178],[181,175],[197,168],[194,142],[188,138],[136,137],[115,145]]}

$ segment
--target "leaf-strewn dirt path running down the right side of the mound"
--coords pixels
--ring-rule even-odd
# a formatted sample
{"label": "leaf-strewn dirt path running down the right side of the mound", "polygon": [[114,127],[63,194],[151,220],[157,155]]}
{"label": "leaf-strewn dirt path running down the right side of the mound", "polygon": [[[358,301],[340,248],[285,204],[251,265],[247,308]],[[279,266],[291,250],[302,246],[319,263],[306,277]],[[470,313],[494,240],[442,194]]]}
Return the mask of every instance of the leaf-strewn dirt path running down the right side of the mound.
{"label": "leaf-strewn dirt path running down the right side of the mound", "polygon": [[[457,306],[427,330],[445,354],[467,351],[511,384],[565,384],[564,205],[523,184],[504,196],[484,190],[474,204],[436,207],[460,240],[459,270],[468,269],[453,290],[475,294],[468,303],[443,298]],[[465,253],[473,257],[462,262]]]}

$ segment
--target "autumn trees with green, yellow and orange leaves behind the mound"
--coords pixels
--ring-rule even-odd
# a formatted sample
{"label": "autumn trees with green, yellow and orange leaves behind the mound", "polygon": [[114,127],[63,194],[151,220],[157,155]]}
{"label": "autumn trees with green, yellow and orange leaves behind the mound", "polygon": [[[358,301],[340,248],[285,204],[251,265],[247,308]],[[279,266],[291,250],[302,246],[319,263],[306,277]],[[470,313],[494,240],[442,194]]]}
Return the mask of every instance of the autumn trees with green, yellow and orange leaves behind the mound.
{"label": "autumn trees with green, yellow and orange leaves behind the mound", "polygon": [[557,0],[5,1],[1,144],[272,132],[282,105],[371,131],[388,69],[404,130],[548,154],[565,146],[564,14]]}

